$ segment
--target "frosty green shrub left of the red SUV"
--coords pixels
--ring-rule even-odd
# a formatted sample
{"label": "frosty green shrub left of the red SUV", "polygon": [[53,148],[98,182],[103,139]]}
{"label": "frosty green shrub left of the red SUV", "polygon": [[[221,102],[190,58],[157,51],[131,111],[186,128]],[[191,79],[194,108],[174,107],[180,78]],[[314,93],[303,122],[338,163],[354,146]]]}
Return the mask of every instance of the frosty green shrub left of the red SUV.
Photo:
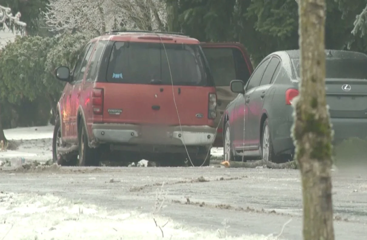
{"label": "frosty green shrub left of the red SUV", "polygon": [[1,114],[4,127],[48,123],[51,107],[56,109],[65,86],[54,78],[54,69],[60,65],[72,69],[91,37],[83,33],[17,37],[1,51],[0,102],[9,105]]}

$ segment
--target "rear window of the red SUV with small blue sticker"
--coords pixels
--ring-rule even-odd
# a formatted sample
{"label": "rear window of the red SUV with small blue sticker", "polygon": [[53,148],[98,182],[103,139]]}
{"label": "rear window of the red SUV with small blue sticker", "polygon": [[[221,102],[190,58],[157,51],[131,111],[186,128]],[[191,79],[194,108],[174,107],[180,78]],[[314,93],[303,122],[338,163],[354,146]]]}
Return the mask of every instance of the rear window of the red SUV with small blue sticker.
{"label": "rear window of the red SUV with small blue sticker", "polygon": [[182,86],[212,86],[211,73],[203,56],[198,44],[165,43],[163,46],[161,43],[115,42],[106,80],[114,83],[171,85],[173,82]]}

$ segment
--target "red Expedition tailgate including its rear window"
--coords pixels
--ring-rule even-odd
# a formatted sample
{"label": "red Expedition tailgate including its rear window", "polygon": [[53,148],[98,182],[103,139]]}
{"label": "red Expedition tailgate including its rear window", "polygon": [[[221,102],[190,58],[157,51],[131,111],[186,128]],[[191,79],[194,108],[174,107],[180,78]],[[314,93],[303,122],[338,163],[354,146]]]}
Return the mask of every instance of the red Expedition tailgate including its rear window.
{"label": "red Expedition tailgate including its rear window", "polygon": [[208,99],[215,87],[199,44],[108,44],[106,77],[96,85],[104,91],[103,122],[214,126]]}

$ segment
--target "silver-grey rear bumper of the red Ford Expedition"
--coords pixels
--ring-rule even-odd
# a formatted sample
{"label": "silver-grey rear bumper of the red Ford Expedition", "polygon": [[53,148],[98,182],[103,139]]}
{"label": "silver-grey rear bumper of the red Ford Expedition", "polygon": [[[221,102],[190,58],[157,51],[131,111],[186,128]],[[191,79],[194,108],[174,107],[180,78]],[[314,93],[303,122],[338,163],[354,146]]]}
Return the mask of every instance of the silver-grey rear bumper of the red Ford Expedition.
{"label": "silver-grey rear bumper of the red Ford Expedition", "polygon": [[149,126],[120,123],[92,124],[93,138],[98,143],[154,144],[172,146],[208,146],[216,129],[210,126]]}

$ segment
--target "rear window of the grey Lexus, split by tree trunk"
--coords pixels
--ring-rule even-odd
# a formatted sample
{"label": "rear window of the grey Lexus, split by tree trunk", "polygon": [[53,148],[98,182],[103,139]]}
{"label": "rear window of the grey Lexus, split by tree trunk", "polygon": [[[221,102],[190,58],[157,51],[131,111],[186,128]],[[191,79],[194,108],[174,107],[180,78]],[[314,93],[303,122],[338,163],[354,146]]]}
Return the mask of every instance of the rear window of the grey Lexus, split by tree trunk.
{"label": "rear window of the grey Lexus, split by tree trunk", "polygon": [[[300,77],[301,61],[293,58],[295,72]],[[367,58],[326,58],[326,78],[367,79]]]}

